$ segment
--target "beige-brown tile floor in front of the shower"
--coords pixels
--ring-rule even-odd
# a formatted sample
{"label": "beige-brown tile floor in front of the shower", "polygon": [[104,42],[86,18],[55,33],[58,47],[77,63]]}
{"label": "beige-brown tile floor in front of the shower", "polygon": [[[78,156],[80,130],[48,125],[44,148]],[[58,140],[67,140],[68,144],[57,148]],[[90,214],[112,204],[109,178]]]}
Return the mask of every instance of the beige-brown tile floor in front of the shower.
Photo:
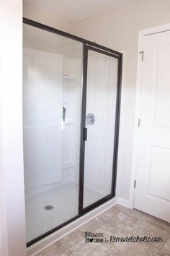
{"label": "beige-brown tile floor in front of the shower", "polygon": [[[161,236],[163,242],[85,242],[85,231],[109,236]],[[42,250],[37,256],[170,255],[170,225],[138,210],[115,205],[63,239]]]}

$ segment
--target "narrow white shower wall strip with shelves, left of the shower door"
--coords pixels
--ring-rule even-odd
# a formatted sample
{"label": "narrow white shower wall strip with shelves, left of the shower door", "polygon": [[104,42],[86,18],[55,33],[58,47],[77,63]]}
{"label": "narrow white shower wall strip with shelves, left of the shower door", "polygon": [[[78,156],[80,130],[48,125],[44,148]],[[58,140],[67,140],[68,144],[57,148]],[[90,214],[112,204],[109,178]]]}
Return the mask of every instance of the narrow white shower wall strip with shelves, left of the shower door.
{"label": "narrow white shower wall strip with shelves, left of the shower door", "polygon": [[[68,50],[75,54],[77,50]],[[79,51],[79,50],[78,50]],[[82,58],[64,58],[63,106],[63,181],[79,184],[79,154],[81,129],[81,73]]]}

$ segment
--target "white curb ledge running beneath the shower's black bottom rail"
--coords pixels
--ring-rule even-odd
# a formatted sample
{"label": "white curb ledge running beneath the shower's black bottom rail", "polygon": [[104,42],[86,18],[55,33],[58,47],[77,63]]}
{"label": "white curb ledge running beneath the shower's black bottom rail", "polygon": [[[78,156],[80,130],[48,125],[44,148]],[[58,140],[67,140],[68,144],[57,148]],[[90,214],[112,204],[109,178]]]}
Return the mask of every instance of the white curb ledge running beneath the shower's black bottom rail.
{"label": "white curb ledge running beneath the shower's black bottom rail", "polygon": [[76,221],[69,223],[68,225],[64,226],[62,229],[55,231],[53,234],[50,234],[44,239],[41,239],[39,242],[27,248],[27,256],[36,255],[37,252],[40,252],[42,249],[45,249],[46,247],[48,247],[50,244],[57,242],[63,236],[66,236],[67,234],[71,233],[71,231],[77,229],[79,226],[83,225],[87,221],[90,221],[92,218],[95,218],[100,213],[104,212],[108,208],[111,208],[116,203],[117,203],[117,197],[105,202],[103,205],[100,205],[94,210],[91,210],[89,213],[86,213],[84,216],[81,216],[80,218],[76,219]]}

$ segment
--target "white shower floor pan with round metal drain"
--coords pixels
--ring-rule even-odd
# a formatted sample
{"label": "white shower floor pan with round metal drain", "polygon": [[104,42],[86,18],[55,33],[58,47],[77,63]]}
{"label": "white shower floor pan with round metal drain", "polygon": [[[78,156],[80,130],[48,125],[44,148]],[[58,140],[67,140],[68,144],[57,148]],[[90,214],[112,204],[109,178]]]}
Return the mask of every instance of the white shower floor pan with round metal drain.
{"label": "white shower floor pan with round metal drain", "polygon": [[[25,192],[27,242],[78,215],[78,184],[51,184],[46,191],[40,187],[36,188],[36,193],[29,194],[30,190]],[[94,198],[94,202],[99,198],[98,193],[86,189],[88,194],[90,200]]]}

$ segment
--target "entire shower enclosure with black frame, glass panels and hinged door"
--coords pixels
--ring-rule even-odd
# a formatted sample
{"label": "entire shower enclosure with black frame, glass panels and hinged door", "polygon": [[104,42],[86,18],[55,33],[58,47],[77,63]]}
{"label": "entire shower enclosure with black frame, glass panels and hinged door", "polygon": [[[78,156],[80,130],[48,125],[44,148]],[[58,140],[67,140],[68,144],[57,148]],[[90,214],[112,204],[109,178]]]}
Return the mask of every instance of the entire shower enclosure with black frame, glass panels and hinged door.
{"label": "entire shower enclosure with black frame, glass panels and hinged door", "polygon": [[24,18],[27,245],[115,197],[122,54]]}

